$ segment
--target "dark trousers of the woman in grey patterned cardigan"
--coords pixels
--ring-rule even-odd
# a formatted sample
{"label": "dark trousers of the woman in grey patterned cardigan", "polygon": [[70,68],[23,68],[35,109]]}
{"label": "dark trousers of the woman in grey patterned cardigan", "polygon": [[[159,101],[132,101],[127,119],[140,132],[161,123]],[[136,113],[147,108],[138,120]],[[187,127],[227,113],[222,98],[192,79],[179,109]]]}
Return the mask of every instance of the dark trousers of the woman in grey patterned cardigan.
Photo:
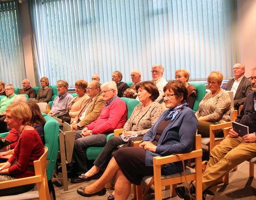
{"label": "dark trousers of the woman in grey patterned cardigan", "polygon": [[121,137],[111,137],[93,164],[101,170],[105,170],[112,157],[113,151],[117,150],[118,146],[124,143],[126,142],[124,142]]}

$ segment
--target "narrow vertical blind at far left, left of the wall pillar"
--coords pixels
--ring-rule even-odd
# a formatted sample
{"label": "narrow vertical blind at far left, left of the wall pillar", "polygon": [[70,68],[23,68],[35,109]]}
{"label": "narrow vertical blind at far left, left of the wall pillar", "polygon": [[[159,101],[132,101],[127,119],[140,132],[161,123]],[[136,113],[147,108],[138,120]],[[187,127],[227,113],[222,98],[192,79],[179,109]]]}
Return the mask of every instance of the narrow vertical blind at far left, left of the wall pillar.
{"label": "narrow vertical blind at far left, left of the wall pillar", "polygon": [[26,75],[17,4],[0,3],[0,81],[21,87]]}

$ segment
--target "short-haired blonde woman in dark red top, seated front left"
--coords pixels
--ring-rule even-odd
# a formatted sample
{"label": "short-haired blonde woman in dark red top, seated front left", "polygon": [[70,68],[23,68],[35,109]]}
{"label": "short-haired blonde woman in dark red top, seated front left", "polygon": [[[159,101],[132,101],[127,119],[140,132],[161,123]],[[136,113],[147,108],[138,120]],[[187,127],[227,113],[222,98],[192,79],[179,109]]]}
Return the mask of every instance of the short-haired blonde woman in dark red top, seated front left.
{"label": "short-haired blonde woman in dark red top, seated front left", "polygon": [[[25,178],[35,175],[34,161],[44,153],[43,143],[34,129],[29,126],[31,110],[27,103],[12,103],[6,109],[5,122],[9,129],[19,133],[14,154],[0,167],[0,181]],[[34,184],[18,186],[15,188],[0,189],[0,196],[24,193],[34,188]]]}

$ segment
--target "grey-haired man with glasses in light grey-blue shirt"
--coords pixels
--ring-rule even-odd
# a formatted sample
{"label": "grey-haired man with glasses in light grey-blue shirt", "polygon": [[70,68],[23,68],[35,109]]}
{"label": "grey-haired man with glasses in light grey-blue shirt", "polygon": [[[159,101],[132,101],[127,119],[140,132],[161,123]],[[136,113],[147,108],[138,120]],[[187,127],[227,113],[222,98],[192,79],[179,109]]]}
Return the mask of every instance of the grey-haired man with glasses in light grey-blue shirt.
{"label": "grey-haired man with glasses in light grey-blue shirt", "polygon": [[74,98],[68,93],[68,82],[65,80],[57,81],[58,97],[56,97],[52,104],[52,109],[48,113],[51,117],[58,117],[59,113],[66,111],[68,103]]}

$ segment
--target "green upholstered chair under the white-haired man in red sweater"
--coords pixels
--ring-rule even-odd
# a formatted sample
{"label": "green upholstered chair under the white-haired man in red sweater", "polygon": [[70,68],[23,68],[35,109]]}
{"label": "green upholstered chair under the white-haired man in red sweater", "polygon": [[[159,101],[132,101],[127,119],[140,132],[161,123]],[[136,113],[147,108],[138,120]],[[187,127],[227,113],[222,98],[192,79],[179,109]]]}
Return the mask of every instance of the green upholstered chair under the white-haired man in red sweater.
{"label": "green upholstered chair under the white-haired man in red sweater", "polygon": [[[135,99],[129,99],[126,97],[122,97],[121,98],[124,102],[125,105],[127,107],[127,119],[130,118],[134,108],[140,103],[138,100]],[[107,136],[107,141],[109,140],[109,138],[113,137],[114,133],[110,133]],[[87,159],[89,159],[89,161],[94,160],[98,157],[98,155],[101,153],[102,149],[104,147],[89,147],[86,149],[86,156]]]}

